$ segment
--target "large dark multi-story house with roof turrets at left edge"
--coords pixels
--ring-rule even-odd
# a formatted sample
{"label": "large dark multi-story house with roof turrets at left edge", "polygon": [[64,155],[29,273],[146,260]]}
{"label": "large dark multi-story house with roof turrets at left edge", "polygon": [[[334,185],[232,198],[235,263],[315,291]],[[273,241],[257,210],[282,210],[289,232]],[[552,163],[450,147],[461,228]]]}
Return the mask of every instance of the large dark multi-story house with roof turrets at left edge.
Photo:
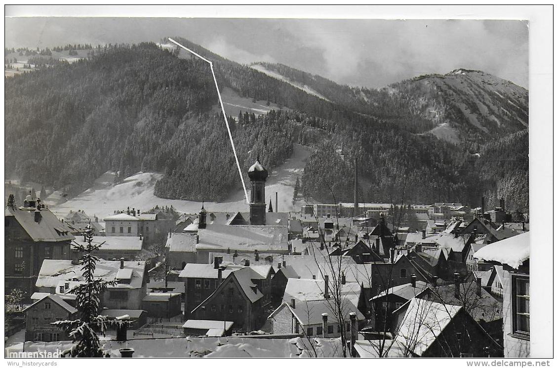
{"label": "large dark multi-story house with roof turrets at left edge", "polygon": [[28,195],[18,207],[9,195],[4,209],[4,290],[22,289],[30,296],[42,262],[70,260],[74,239],[70,228],[44,208],[40,199]]}

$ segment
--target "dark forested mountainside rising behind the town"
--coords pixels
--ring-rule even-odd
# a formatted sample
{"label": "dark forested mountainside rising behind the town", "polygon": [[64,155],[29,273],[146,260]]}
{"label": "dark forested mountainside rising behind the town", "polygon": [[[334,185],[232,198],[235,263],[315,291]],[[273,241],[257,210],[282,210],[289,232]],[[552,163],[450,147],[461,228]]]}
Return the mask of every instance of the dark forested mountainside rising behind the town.
{"label": "dark forested mountainside rising behind the town", "polygon": [[[281,164],[293,143],[316,146],[302,178],[306,197],[352,200],[357,156],[361,200],[398,203],[404,193],[406,202],[477,205],[487,193],[509,196],[522,208],[528,205],[527,181],[514,180],[528,177],[525,127],[507,139],[508,131],[520,126],[509,123],[508,130],[502,120],[506,130],[500,140],[487,126],[477,146],[464,139],[447,142],[430,133],[440,121],[424,107],[429,103],[421,107],[415,101],[422,101],[420,91],[426,87],[411,88],[406,81],[372,90],[321,77],[314,84],[303,81],[324,99],[187,40],[179,42],[214,61],[221,88],[286,108],[262,116],[242,113],[229,122],[245,168],[257,156],[270,169]],[[240,182],[223,116],[211,113],[218,101],[213,79],[206,63],[177,54],[155,44],[109,47],[90,60],[7,78],[5,174],[76,194],[107,170],[119,171],[119,179],[157,171],[164,173],[155,188],[159,197],[227,198]],[[425,92],[425,100],[437,98]],[[514,170],[496,168],[490,156],[505,156]]]}

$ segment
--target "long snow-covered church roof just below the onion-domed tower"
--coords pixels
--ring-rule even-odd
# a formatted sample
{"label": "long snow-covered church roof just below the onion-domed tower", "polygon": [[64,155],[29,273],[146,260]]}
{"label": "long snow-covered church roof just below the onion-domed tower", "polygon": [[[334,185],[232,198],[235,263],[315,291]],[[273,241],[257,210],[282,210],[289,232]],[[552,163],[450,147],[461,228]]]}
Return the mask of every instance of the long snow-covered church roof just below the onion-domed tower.
{"label": "long snow-covered church roof just below the onion-domed tower", "polygon": [[287,226],[219,225],[198,230],[196,250],[288,251]]}

